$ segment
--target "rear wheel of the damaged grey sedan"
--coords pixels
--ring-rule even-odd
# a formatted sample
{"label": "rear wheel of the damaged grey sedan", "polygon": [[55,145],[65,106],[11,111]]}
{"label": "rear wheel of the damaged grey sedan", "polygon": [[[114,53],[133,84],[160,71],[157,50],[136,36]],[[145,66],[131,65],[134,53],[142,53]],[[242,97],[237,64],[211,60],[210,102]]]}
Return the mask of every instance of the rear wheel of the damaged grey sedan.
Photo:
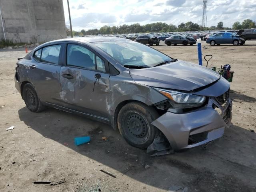
{"label": "rear wheel of the damaged grey sedan", "polygon": [[45,108],[40,99],[38,98],[36,90],[30,83],[24,85],[24,88],[22,90],[22,98],[24,99],[28,110],[32,112],[41,112]]}

